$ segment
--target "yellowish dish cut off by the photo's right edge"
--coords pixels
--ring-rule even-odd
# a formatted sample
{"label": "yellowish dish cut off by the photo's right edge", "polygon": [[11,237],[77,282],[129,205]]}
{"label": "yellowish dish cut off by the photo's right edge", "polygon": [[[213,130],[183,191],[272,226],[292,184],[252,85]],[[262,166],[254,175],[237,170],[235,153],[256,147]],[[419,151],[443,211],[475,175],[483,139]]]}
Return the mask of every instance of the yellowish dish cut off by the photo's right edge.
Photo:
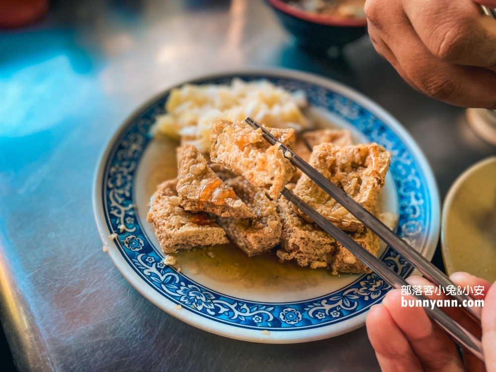
{"label": "yellowish dish cut off by the photo's right edge", "polygon": [[466,169],[449,188],[441,217],[441,252],[448,275],[466,271],[496,280],[496,156]]}

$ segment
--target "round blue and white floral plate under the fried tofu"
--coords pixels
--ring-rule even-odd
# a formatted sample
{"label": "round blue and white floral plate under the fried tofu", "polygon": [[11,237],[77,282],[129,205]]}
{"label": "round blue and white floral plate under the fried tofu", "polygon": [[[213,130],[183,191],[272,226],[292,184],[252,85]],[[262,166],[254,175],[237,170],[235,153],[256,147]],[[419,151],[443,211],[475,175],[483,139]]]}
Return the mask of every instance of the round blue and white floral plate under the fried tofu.
{"label": "round blue and white floral plate under the fried tofu", "polygon": [[[303,90],[317,122],[348,127],[359,141],[377,142],[390,151],[382,208],[398,214],[397,233],[432,258],[439,234],[437,188],[424,155],[401,124],[360,93],[302,72],[245,70],[188,82],[229,83],[233,77],[263,78],[290,91]],[[311,285],[296,283],[294,289],[280,291],[270,285],[250,288],[246,283],[222,281],[193,269],[178,272],[160,262],[163,254],[146,214],[155,186],[176,175],[176,144],[153,139],[149,130],[154,118],[164,113],[168,95],[166,91],[152,98],[122,124],[95,177],[93,202],[100,235],[129,283],[181,320],[241,340],[305,342],[364,325],[367,311],[390,288],[374,273],[336,277],[314,270],[318,280],[309,280]],[[113,232],[118,235],[115,240],[109,238]],[[382,247],[379,256],[404,277],[413,271],[392,248]]]}

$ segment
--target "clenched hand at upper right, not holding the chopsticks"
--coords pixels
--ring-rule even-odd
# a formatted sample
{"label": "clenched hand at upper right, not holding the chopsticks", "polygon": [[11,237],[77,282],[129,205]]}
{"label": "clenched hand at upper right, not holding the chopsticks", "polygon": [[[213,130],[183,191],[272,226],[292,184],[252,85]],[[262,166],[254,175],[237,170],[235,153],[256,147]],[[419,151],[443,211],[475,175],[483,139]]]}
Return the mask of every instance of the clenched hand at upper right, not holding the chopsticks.
{"label": "clenched hand at upper right, not holding the chopsticks", "polygon": [[367,0],[369,35],[414,88],[496,109],[496,20],[479,4],[495,8],[496,0]]}

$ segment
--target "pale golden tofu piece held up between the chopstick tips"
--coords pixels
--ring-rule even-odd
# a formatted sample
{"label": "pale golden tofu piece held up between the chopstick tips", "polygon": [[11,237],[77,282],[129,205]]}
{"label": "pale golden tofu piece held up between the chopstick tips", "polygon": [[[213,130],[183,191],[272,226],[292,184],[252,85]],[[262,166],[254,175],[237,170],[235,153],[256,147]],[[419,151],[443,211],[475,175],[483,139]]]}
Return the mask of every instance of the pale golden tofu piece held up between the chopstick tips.
{"label": "pale golden tofu piece held up between the chopstick tips", "polygon": [[[267,129],[283,144],[292,146],[293,129]],[[278,198],[296,171],[277,144],[270,145],[261,129],[253,130],[246,123],[219,119],[213,124],[210,140],[213,162],[242,175],[255,187],[265,188],[272,199]]]}

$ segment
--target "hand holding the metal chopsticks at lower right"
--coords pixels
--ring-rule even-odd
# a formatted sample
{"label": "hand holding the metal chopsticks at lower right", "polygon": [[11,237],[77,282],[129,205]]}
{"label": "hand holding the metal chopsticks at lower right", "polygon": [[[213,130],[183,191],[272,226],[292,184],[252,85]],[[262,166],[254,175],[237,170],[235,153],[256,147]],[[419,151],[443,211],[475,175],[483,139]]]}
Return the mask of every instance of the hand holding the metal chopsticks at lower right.
{"label": "hand holding the metal chopsticks at lower right", "polygon": [[[483,294],[474,296],[484,300],[482,308],[482,344],[488,372],[496,372],[496,285],[467,273],[450,276],[456,286],[483,286]],[[410,285],[432,285],[427,279],[412,276]],[[490,288],[491,287],[491,288]],[[442,331],[420,307],[401,307],[401,290],[387,293],[381,305],[375,305],[367,316],[367,333],[375,350],[382,372],[486,371],[484,364],[468,351],[463,351],[465,366],[452,339]],[[403,296],[406,300],[412,296]],[[447,299],[445,295],[425,296],[430,300]],[[460,325],[481,337],[476,323],[459,308],[443,308]]]}

